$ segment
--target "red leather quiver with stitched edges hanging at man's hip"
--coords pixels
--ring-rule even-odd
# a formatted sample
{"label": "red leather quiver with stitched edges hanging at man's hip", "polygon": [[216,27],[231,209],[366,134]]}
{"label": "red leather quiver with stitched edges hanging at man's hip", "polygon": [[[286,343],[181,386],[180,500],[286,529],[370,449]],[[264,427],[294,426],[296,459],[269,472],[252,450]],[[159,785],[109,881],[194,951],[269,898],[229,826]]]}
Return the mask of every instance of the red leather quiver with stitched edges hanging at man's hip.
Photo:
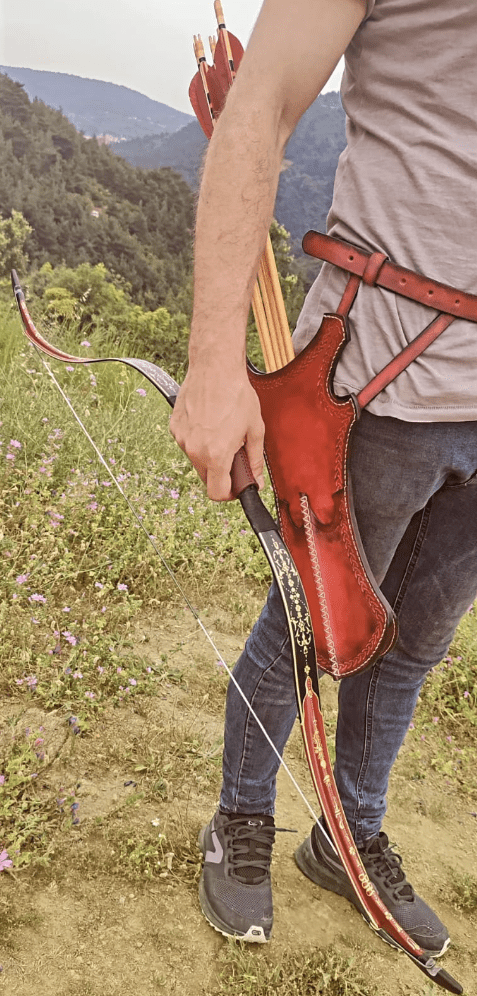
{"label": "red leather quiver with stitched edges hanging at man's hip", "polygon": [[330,386],[346,337],[344,319],[325,315],[286,367],[268,374],[249,369],[281,534],[306,592],[318,666],[335,679],[374,663],[397,634],[353,513],[348,447],[357,406]]}

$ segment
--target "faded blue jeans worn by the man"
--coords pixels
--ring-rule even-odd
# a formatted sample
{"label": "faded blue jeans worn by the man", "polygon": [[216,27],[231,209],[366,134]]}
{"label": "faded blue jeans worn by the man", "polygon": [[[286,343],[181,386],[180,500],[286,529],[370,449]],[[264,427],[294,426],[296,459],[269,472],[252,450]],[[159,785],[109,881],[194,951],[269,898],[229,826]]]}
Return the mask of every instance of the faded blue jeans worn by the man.
{"label": "faded blue jeans worn by the man", "polygon": [[[399,620],[395,647],[340,684],[335,777],[360,846],[380,830],[389,773],[426,674],[476,596],[477,422],[403,422],[364,411],[350,477],[371,570]],[[297,708],[275,584],[234,674],[282,753]],[[277,768],[230,683],[221,807],[272,814]]]}

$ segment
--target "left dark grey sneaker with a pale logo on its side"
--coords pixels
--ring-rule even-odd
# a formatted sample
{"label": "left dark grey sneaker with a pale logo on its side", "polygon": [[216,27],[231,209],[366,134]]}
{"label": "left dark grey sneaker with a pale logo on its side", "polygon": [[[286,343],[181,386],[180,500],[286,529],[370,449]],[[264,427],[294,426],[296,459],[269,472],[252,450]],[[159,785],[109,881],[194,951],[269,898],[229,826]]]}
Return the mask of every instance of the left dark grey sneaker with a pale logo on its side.
{"label": "left dark grey sneaker with a pale logo on its side", "polygon": [[217,810],[199,834],[204,867],[199,883],[202,912],[225,937],[264,944],[272,923],[270,862],[273,816]]}

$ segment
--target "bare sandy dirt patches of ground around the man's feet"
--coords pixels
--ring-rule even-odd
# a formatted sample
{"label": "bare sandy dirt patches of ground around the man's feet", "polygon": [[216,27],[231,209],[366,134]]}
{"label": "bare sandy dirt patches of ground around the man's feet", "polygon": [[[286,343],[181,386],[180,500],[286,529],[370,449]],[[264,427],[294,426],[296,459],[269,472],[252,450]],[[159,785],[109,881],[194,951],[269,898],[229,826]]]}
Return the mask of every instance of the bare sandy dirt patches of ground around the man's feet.
{"label": "bare sandy dirt patches of ground around the man's feet", "polygon": [[[237,638],[220,632],[218,645],[227,660],[236,656]],[[212,691],[205,691],[207,668],[217,672],[215,661],[202,645],[193,620],[178,613],[165,629],[152,621],[144,624],[138,638],[141,652],[151,658],[173,651],[174,667],[183,670],[187,687],[165,685],[155,699],[140,708],[131,704],[107,713],[97,729],[86,737],[64,740],[64,717],[46,717],[31,708],[22,716],[25,725],[38,720],[45,725],[50,751],[56,744],[58,758],[51,767],[50,783],[57,786],[80,783],[80,823],[64,832],[48,867],[35,876],[0,876],[0,904],[8,908],[10,929],[0,936],[0,992],[11,996],[152,996],[157,993],[207,996],[217,986],[221,936],[203,919],[196,889],[171,876],[150,881],[137,876],[111,874],[102,868],[95,827],[118,814],[126,826],[150,834],[153,821],[159,826],[180,823],[195,835],[214,810],[217,779],[210,784],[186,778],[167,800],[147,796],[129,806],[134,787],[125,782],[138,779],[134,751],[125,745],[141,744],[179,714],[187,729],[200,739],[207,730],[210,743],[221,733],[221,700],[225,681],[215,674]],[[217,680],[216,680],[217,679]],[[216,701],[217,699],[217,701]],[[336,712],[336,687],[323,687],[327,717]],[[6,720],[15,709],[4,706]],[[161,727],[162,724],[162,727]],[[182,727],[184,728],[184,727]],[[393,773],[389,813],[385,829],[403,854],[408,878],[417,891],[438,911],[448,926],[452,946],[443,964],[465,987],[466,996],[477,996],[477,919],[456,909],[446,898],[446,885],[454,871],[476,875],[477,819],[472,806],[452,783],[443,786],[432,771],[415,777],[409,749],[403,748]],[[295,730],[287,760],[300,784],[311,797],[306,766]],[[129,823],[127,822],[129,821]],[[352,954],[355,967],[382,996],[431,996],[437,988],[401,954],[376,938],[346,902],[320,890],[304,878],[293,861],[294,847],[309,833],[311,816],[286,774],[279,773],[278,826],[297,834],[279,834],[274,849],[272,877],[275,925],[271,950],[309,950],[336,945]],[[102,841],[102,843],[101,843]],[[104,847],[104,838],[100,840]],[[109,861],[111,859],[109,858]],[[197,852],[197,861],[199,855]],[[1,905],[0,905],[1,909]],[[256,957],[263,956],[259,946]]]}

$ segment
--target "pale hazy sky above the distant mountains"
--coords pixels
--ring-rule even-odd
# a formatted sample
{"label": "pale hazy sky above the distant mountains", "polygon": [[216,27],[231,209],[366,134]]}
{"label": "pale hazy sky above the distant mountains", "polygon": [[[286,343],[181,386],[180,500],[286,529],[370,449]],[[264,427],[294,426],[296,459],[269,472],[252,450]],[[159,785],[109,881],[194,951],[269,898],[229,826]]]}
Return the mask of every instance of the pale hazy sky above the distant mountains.
{"label": "pale hazy sky above the distant mountains", "polygon": [[[223,7],[245,44],[260,0]],[[190,112],[192,35],[206,41],[215,28],[213,0],[0,0],[0,65],[122,83]],[[338,89],[340,76],[326,89]]]}

